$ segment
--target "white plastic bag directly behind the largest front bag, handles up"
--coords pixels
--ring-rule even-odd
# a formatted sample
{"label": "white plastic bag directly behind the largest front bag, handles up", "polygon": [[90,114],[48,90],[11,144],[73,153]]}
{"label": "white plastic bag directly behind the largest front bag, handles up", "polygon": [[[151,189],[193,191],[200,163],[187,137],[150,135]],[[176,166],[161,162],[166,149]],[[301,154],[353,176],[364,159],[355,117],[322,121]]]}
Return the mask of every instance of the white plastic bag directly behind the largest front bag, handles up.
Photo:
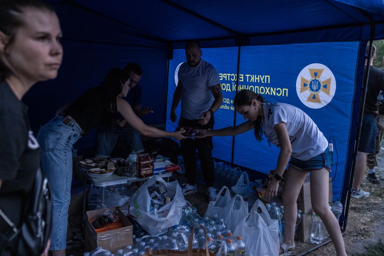
{"label": "white plastic bag directly behind the largest front bag, handles up", "polygon": [[243,200],[242,196],[235,195],[217,216],[223,218],[227,228],[233,231],[247,214],[248,203]]}

